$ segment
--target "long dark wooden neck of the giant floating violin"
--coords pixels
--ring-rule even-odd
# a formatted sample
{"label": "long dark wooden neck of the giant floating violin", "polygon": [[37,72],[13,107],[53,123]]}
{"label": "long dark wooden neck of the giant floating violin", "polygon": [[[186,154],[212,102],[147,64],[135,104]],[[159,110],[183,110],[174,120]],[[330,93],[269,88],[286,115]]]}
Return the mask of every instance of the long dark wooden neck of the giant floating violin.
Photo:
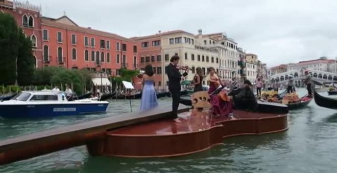
{"label": "long dark wooden neck of the giant floating violin", "polygon": [[[187,106],[180,105],[179,112],[187,110]],[[165,104],[150,111],[123,113],[118,116],[1,140],[0,165],[83,145],[87,146],[90,155],[102,155],[107,131],[170,119],[171,111],[171,104]]]}

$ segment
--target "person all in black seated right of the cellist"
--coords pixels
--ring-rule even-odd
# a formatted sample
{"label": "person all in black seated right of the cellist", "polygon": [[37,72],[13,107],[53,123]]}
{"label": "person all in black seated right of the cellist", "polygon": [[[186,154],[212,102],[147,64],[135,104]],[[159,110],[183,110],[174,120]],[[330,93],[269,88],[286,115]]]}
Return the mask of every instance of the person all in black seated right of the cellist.
{"label": "person all in black seated right of the cellist", "polygon": [[235,96],[235,108],[240,110],[254,111],[257,108],[257,101],[251,89],[252,83],[245,80],[244,88]]}

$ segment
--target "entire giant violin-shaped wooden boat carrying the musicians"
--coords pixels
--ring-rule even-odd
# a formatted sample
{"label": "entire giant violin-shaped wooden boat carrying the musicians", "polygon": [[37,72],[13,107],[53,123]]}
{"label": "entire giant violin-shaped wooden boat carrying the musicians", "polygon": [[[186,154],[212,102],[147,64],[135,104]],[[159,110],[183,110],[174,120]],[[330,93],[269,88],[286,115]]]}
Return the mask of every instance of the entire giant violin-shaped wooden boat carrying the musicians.
{"label": "entire giant violin-shaped wooden boat carrying the musicians", "polygon": [[235,118],[214,118],[207,110],[211,108],[207,92],[195,93],[193,97],[197,98],[195,109],[180,106],[180,123],[173,121],[171,104],[164,104],[148,111],[2,140],[0,165],[82,145],[87,146],[91,156],[181,156],[219,145],[226,137],[276,133],[288,128],[284,112],[234,110]]}

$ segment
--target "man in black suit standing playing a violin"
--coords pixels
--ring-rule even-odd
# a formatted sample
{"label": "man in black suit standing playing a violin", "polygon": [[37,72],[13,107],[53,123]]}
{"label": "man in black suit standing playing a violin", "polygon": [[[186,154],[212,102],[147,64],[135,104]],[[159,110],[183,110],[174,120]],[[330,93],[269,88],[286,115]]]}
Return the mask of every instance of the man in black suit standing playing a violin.
{"label": "man in black suit standing playing a violin", "polygon": [[185,71],[182,75],[179,72],[179,68],[177,67],[179,63],[180,57],[178,55],[174,55],[171,57],[170,64],[166,68],[167,77],[168,77],[168,90],[171,93],[172,97],[172,116],[173,118],[178,118],[177,110],[180,102],[180,80],[187,76],[187,71]]}

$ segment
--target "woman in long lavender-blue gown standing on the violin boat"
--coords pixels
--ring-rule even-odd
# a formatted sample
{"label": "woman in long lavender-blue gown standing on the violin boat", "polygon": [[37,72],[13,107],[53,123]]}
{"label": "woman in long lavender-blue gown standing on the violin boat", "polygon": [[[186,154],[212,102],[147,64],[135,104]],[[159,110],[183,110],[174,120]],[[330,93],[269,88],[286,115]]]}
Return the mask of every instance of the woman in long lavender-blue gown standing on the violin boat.
{"label": "woman in long lavender-blue gown standing on the violin boat", "polygon": [[145,67],[145,73],[143,74],[143,91],[141,95],[140,110],[149,110],[158,106],[158,100],[156,91],[153,86],[154,72],[151,65]]}

